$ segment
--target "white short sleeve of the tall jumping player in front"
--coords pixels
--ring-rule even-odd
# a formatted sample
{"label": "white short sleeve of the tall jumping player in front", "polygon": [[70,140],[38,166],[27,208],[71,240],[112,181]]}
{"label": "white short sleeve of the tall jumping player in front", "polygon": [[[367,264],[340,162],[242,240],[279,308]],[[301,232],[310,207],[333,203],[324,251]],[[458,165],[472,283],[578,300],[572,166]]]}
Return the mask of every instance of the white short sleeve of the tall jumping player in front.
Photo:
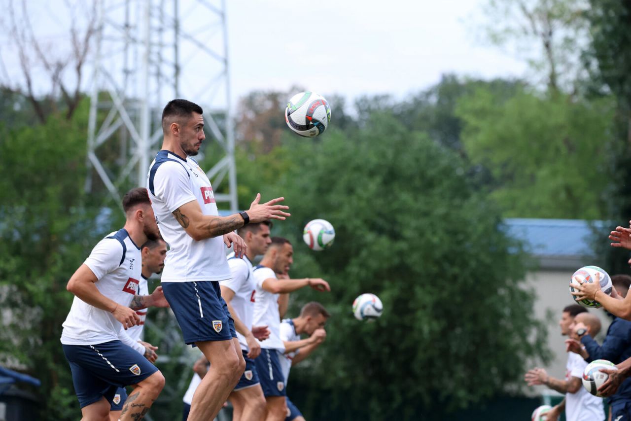
{"label": "white short sleeve of the tall jumping player in front", "polygon": [[179,162],[167,161],[162,163],[153,177],[153,191],[156,198],[160,198],[172,212],[184,205],[197,200],[191,190],[191,181],[184,165]]}

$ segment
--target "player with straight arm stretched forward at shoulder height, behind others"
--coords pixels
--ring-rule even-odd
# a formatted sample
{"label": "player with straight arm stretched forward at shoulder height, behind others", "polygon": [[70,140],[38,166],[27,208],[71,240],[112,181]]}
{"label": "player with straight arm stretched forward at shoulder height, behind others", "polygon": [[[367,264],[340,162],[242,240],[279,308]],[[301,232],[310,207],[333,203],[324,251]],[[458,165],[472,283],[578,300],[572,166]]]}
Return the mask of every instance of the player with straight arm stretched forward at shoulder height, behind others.
{"label": "player with straight arm stretched forward at shoulder height, behind others", "polygon": [[254,325],[269,327],[269,338],[261,342],[261,355],[254,360],[265,395],[265,419],[268,421],[282,421],[286,417],[285,376],[278,359],[279,353],[285,353],[285,345],[280,338],[279,295],[304,287],[317,291],[331,290],[329,284],[320,278],[289,279],[292,263],[292,243],[281,237],[272,237],[261,264],[253,271],[256,282]]}

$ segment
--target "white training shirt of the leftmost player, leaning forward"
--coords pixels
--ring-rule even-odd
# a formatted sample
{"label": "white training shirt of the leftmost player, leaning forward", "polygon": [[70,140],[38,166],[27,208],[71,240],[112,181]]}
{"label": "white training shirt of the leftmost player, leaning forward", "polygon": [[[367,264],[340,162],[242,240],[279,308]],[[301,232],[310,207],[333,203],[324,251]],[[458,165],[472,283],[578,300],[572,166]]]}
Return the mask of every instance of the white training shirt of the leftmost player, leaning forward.
{"label": "white training shirt of the leftmost player, leaning forward", "polygon": [[[129,307],[138,292],[141,255],[139,247],[129,238],[125,229],[112,232],[100,240],[84,264],[97,277],[95,285],[101,294],[119,305]],[[121,340],[139,353],[145,352],[142,345],[129,335],[124,335],[121,322],[112,313],[98,309],[76,296],[62,326],[61,343],[64,345],[95,345]]]}

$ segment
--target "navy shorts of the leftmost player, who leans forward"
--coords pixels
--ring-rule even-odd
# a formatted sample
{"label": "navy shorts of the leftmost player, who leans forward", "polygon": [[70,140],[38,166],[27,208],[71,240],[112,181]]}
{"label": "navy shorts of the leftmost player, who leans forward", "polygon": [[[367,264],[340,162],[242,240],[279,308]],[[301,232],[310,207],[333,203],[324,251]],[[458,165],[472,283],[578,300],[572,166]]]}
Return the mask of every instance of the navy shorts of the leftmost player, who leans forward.
{"label": "navy shorts of the leftmost player, who leans forward", "polygon": [[97,345],[63,345],[73,373],[74,391],[81,408],[105,396],[110,404],[116,389],[137,384],[158,371],[143,355],[121,341]]}

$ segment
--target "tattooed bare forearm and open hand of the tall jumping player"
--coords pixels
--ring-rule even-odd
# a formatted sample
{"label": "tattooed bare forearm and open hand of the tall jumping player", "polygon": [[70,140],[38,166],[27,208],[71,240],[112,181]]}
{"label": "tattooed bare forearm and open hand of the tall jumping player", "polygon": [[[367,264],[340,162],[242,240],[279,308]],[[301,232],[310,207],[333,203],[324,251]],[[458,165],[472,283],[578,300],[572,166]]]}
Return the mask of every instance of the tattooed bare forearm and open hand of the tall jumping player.
{"label": "tattooed bare forearm and open hand of the tall jumping player", "polygon": [[[259,203],[260,200],[261,194],[259,193],[256,195],[256,199],[252,201],[249,210],[247,210],[246,214],[249,222],[257,223],[269,219],[284,220],[286,216],[290,216],[289,213],[283,211],[289,209],[289,206],[277,205],[285,198],[271,199],[267,203],[262,204]],[[186,234],[196,241],[219,237],[245,225],[244,216],[240,213],[228,216],[204,215],[196,200],[184,203],[184,205],[173,211],[173,215],[177,222],[182,225]]]}

